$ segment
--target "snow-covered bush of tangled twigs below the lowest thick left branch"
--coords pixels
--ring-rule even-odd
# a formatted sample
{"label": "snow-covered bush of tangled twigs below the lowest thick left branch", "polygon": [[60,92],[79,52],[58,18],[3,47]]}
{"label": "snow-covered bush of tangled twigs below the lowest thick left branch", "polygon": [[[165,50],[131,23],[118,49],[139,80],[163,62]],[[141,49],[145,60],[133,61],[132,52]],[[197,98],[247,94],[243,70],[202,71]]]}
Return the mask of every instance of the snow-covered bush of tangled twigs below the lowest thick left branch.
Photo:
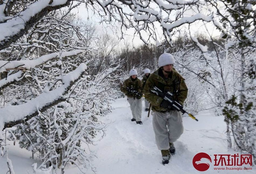
{"label": "snow-covered bush of tangled twigs below the lowest thick left branch", "polygon": [[14,134],[20,147],[33,151],[43,161],[39,168],[59,167],[64,173],[68,164],[75,164],[82,172],[91,167],[94,154],[90,144],[104,135],[105,123],[100,120],[113,100],[108,81],[117,68],[109,67],[95,77],[84,76],[67,94],[66,101],[18,125]]}

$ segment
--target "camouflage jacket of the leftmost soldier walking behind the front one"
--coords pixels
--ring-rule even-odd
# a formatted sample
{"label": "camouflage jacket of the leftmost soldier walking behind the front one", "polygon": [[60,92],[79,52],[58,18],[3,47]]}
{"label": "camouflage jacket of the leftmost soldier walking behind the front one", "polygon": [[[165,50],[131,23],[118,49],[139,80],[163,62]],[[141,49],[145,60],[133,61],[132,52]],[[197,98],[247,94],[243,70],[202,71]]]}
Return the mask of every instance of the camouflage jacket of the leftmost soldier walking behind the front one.
{"label": "camouflage jacket of the leftmost soldier walking behind the front one", "polygon": [[136,97],[135,94],[131,94],[127,91],[127,87],[134,88],[137,92],[142,93],[142,82],[136,77],[136,79],[133,81],[131,77],[129,77],[127,80],[124,81],[124,83],[121,85],[121,91],[127,96],[127,97]]}

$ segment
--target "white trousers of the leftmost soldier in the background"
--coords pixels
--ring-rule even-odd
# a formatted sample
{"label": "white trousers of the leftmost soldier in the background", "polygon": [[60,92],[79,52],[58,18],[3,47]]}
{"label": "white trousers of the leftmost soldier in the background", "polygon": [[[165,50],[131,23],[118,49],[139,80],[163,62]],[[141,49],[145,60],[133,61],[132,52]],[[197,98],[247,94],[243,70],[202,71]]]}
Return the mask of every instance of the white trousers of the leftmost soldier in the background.
{"label": "white trousers of the leftmost soldier in the background", "polygon": [[136,121],[141,121],[142,98],[138,100],[137,98],[127,97],[127,100],[131,106],[132,118],[136,119]]}

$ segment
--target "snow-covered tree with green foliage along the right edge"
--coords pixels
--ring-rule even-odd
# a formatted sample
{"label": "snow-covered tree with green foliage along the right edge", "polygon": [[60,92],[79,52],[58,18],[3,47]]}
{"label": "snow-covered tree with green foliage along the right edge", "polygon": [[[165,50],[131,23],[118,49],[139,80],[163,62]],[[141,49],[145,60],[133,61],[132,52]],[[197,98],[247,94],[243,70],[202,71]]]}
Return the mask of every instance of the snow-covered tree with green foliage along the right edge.
{"label": "snow-covered tree with green foliage along the right edge", "polygon": [[[227,62],[233,64],[233,93],[225,97],[225,121],[234,142],[229,139],[229,147],[246,151],[255,156],[255,1],[230,0],[211,2],[219,9],[217,14],[223,26],[222,38],[226,45]],[[222,7],[222,8],[220,8]],[[232,65],[231,64],[231,65]],[[225,71],[224,71],[225,72]],[[224,74],[227,76],[228,71]],[[227,86],[226,86],[227,87]],[[238,104],[239,103],[239,104]],[[231,107],[231,108],[230,108]],[[228,109],[229,108],[229,109]],[[239,113],[240,112],[240,113]],[[236,114],[234,114],[236,113]],[[237,117],[234,117],[236,115]],[[248,131],[249,130],[249,131]],[[227,131],[229,134],[229,130]],[[253,150],[254,149],[254,150]],[[255,161],[256,163],[256,161]]]}

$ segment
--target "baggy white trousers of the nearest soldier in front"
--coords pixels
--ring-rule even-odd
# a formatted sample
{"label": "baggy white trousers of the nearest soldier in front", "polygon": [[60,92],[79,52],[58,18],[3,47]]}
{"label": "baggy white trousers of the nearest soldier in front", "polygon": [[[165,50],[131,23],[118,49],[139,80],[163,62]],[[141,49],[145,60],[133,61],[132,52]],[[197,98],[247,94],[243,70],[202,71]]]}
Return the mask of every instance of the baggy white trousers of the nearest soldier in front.
{"label": "baggy white trousers of the nearest soldier in front", "polygon": [[152,112],[155,142],[159,150],[168,150],[183,133],[181,114],[178,111]]}

